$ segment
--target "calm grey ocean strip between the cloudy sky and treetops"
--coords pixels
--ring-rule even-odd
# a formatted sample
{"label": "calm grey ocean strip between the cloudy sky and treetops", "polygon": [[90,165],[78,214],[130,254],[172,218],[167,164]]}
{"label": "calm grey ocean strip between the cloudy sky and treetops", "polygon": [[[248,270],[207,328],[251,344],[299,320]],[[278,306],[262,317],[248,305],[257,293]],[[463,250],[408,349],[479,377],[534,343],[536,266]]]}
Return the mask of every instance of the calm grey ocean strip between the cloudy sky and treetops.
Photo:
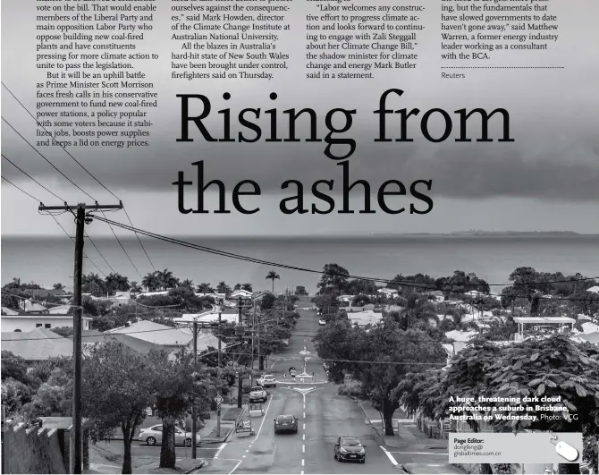
{"label": "calm grey ocean strip between the cloudy sky and treetops", "polygon": [[[94,238],[97,249],[115,272],[128,276],[130,281],[141,277],[114,237]],[[347,268],[351,275],[391,279],[402,274],[419,273],[430,276],[451,276],[454,270],[474,272],[500,292],[509,284],[510,273],[521,266],[544,272],[561,271],[565,275],[577,272],[599,276],[599,236],[596,235],[400,235],[355,237],[181,237],[181,240],[201,244],[251,258],[294,267],[322,270],[327,263]],[[243,260],[191,250],[167,242],[142,237],[148,255],[156,269],[173,271],[181,279],[190,278],[194,284],[215,286],[225,281],[233,286],[251,283],[255,290],[271,289],[266,274],[274,269],[275,292],[304,285],[316,291],[320,276],[316,273],[263,266]],[[148,258],[135,238],[121,238],[135,267],[144,276],[152,270]],[[105,274],[111,272],[94,246],[84,248],[89,259]],[[74,245],[66,236],[2,237],[2,284],[13,277],[21,282],[34,281],[44,287],[61,283],[72,289]],[[84,273],[98,273],[84,259]]]}

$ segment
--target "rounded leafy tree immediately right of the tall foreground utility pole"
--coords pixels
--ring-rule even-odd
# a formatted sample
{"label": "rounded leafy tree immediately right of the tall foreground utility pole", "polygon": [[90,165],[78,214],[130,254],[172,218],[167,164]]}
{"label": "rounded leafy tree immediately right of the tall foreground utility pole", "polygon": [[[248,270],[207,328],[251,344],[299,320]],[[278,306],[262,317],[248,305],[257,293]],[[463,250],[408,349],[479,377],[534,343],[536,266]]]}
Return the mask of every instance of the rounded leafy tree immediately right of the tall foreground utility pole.
{"label": "rounded leafy tree immediately right of the tall foreground utility pole", "polygon": [[[84,417],[92,440],[111,438],[120,428],[122,473],[132,473],[131,442],[154,397],[148,358],[119,342],[97,344],[84,356],[82,376]],[[98,381],[102,381],[99,391]]]}

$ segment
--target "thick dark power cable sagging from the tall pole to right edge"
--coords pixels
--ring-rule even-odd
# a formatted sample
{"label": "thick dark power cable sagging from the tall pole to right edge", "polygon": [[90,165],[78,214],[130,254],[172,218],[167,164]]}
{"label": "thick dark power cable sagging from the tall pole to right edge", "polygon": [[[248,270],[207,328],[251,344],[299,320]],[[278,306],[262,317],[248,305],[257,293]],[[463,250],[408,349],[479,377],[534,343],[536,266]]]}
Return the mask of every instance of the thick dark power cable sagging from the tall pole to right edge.
{"label": "thick dark power cable sagging from the tall pole to right edge", "polygon": [[[251,262],[254,264],[260,264],[260,265],[264,265],[264,266],[281,267],[281,268],[286,268],[286,269],[290,269],[290,270],[297,270],[300,272],[307,272],[307,273],[311,273],[311,274],[330,275],[330,274],[327,274],[324,270],[316,270],[316,269],[309,269],[309,268],[305,268],[305,267],[290,266],[287,264],[270,262],[270,261],[266,261],[263,259],[251,258],[248,256],[243,256],[240,254],[235,254],[235,253],[227,252],[224,250],[216,250],[214,248],[208,248],[207,246],[201,246],[199,244],[193,244],[191,242],[181,241],[179,239],[171,238],[171,237],[164,236],[161,234],[144,231],[139,228],[132,228],[129,225],[124,225],[122,223],[118,223],[116,221],[112,221],[112,220],[102,218],[99,216],[94,216],[94,217],[99,219],[100,221],[105,221],[106,223],[110,223],[111,225],[121,227],[122,229],[126,229],[131,232],[140,233],[140,234],[146,235],[148,237],[152,237],[157,240],[164,241],[164,242],[169,242],[171,244],[177,244],[182,247],[187,247],[187,248],[194,249],[194,250],[202,250],[204,252],[207,252],[209,254],[215,254],[217,256],[223,256],[223,257],[227,257],[227,258],[231,258],[231,259],[244,260],[244,261],[248,261],[248,262]],[[380,278],[380,277],[364,277],[364,276],[343,276],[343,277],[352,278],[352,279],[365,279],[365,280],[371,280],[374,282],[383,282],[383,283],[387,283],[387,284],[401,284],[401,285],[404,285],[407,287],[413,287],[413,288],[417,288],[417,289],[438,290],[436,286],[431,286],[431,285],[427,285],[427,284],[405,284],[404,282],[397,282],[397,281],[393,281],[392,279],[385,279],[385,278]],[[586,279],[586,280],[589,280],[589,279]],[[570,282],[570,281],[568,281],[568,282]],[[542,283],[539,283],[539,284],[542,284]],[[462,291],[452,290],[451,292],[452,293],[468,293],[467,291],[463,291],[463,290]],[[529,297],[528,295],[502,295],[501,293],[485,293],[484,295],[485,296],[495,296],[495,297],[507,296],[510,298],[525,298],[525,299],[527,299]],[[543,296],[539,296],[539,299],[540,300],[553,300],[553,301],[589,301],[589,300],[592,300],[592,299],[574,299],[574,298],[570,298],[570,297],[561,298],[561,297],[543,297]]]}

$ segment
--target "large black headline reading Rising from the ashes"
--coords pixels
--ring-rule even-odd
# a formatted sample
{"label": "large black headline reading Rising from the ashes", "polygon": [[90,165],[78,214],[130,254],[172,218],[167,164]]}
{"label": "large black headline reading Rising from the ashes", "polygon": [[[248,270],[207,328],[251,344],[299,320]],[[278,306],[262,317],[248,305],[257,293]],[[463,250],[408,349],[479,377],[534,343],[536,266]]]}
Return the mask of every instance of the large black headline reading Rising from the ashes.
{"label": "large black headline reading Rising from the ashes", "polygon": [[[450,140],[452,137],[451,132],[454,130],[454,121],[451,115],[443,110],[442,108],[433,108],[427,110],[424,114],[420,115],[421,111],[418,108],[413,109],[392,109],[387,106],[387,101],[391,95],[401,96],[403,95],[401,89],[387,89],[379,98],[378,109],[374,111],[374,114],[378,116],[378,137],[374,139],[375,142],[413,142],[414,136],[410,134],[409,130],[415,129],[413,123],[417,123],[419,130],[424,139],[429,142],[439,143],[445,140]],[[281,184],[281,189],[284,192],[289,192],[289,196],[283,198],[279,203],[281,212],[285,215],[292,214],[318,214],[327,215],[332,213],[337,208],[335,197],[341,198],[342,207],[337,210],[338,213],[351,214],[355,210],[350,207],[350,191],[361,185],[364,201],[363,207],[359,209],[359,213],[375,213],[371,199],[371,186],[366,180],[357,180],[350,182],[350,157],[356,152],[358,147],[357,141],[351,137],[347,137],[344,134],[350,132],[353,125],[353,117],[357,114],[356,109],[344,109],[334,108],[329,110],[325,115],[325,126],[328,131],[325,137],[321,137],[318,133],[318,115],[312,108],[303,108],[301,110],[287,109],[283,111],[283,115],[288,116],[286,122],[286,130],[282,134],[279,130],[281,119],[279,111],[276,108],[269,108],[262,110],[261,108],[245,108],[242,109],[236,117],[237,123],[233,122],[233,115],[231,108],[227,107],[217,111],[217,114],[222,115],[220,126],[217,130],[209,128],[207,123],[204,123],[208,117],[214,117],[213,106],[210,99],[201,94],[178,94],[177,98],[181,98],[181,137],[177,139],[178,142],[192,142],[193,138],[190,137],[190,125],[194,125],[197,132],[199,132],[198,139],[205,140],[207,142],[245,142],[245,143],[257,143],[263,136],[266,139],[262,140],[265,143],[272,142],[325,142],[326,147],[324,149],[325,157],[334,160],[336,165],[342,167],[342,183],[340,188],[335,188],[334,180],[318,180],[312,183],[310,187],[312,200],[308,204],[308,199],[305,196],[304,184],[298,180],[285,180]],[[229,92],[223,94],[224,101],[229,101],[232,98]],[[269,95],[271,101],[275,101],[278,96],[275,92]],[[190,115],[190,106],[201,106],[201,113],[198,115]],[[211,115],[212,114],[212,115]],[[510,114],[506,109],[496,108],[492,112],[487,112],[483,108],[474,108],[471,110],[459,109],[453,111],[453,114],[457,115],[457,133],[454,134],[453,140],[456,142],[493,142],[494,138],[491,137],[489,131],[490,120],[494,115],[498,115],[500,120],[497,120],[496,124],[501,125],[499,133],[499,142],[513,142],[514,139],[510,137]],[[263,130],[258,122],[260,115],[266,116],[266,130]],[[249,119],[252,116],[252,119]],[[390,117],[391,116],[391,117]],[[333,123],[334,117],[334,123]],[[471,117],[477,117],[479,119],[477,134],[471,134],[468,130],[468,119]],[[342,118],[342,124],[339,125],[339,118]],[[437,133],[435,136],[430,131],[429,122],[431,119],[442,119],[442,133]],[[302,122],[303,121],[303,122]],[[419,123],[418,123],[419,122]],[[308,124],[308,134],[306,136],[298,137],[297,126]],[[410,125],[411,128],[409,127]],[[236,130],[233,130],[236,129]],[[388,130],[391,129],[390,130]],[[474,127],[470,127],[474,128]],[[237,129],[240,129],[237,131]],[[195,208],[187,208],[186,198],[190,198],[189,191],[190,187],[194,185],[194,182],[186,179],[185,173],[180,171],[178,179],[173,182],[173,185],[177,187],[178,193],[178,208],[182,214],[189,213],[210,213],[215,214],[227,214],[231,213],[231,209],[227,208],[226,201],[227,196],[232,199],[232,207],[235,208],[239,213],[244,215],[253,215],[257,213],[260,208],[247,208],[247,203],[241,203],[241,197],[243,196],[259,196],[260,186],[253,180],[242,180],[238,182],[232,191],[227,191],[224,182],[220,180],[212,180],[206,182],[204,161],[199,160],[193,162],[191,165],[196,167],[196,179],[195,182],[195,195],[197,198]],[[208,190],[214,190],[218,192],[218,207],[216,209],[207,209],[204,199],[204,193]],[[376,191],[376,201],[378,207],[384,213],[391,215],[398,215],[408,211],[409,214],[426,215],[433,209],[433,199],[430,194],[433,191],[432,180],[416,180],[409,184],[409,190],[399,180],[387,180],[382,183]],[[409,207],[394,207],[385,200],[387,197],[392,196],[409,196],[411,200]]]}

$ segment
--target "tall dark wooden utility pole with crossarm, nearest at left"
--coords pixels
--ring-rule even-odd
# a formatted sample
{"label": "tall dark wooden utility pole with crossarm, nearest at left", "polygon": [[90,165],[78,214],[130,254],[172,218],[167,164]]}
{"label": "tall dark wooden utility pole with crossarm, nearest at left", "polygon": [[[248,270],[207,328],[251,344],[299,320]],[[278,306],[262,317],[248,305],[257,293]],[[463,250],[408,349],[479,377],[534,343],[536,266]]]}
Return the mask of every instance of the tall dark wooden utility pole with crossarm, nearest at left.
{"label": "tall dark wooden utility pole with crossarm, nearest at left", "polygon": [[[83,428],[81,418],[81,285],[83,276],[83,236],[85,225],[91,224],[91,217],[87,211],[100,211],[103,209],[122,209],[122,202],[118,205],[93,205],[78,203],[70,206],[66,202],[63,206],[44,206],[39,203],[39,211],[70,211],[75,215],[75,273],[73,274],[73,296],[72,296],[72,353],[73,353],[73,391],[72,391],[72,453],[71,472],[80,474],[83,468]],[[76,211],[76,213],[75,213]]]}

